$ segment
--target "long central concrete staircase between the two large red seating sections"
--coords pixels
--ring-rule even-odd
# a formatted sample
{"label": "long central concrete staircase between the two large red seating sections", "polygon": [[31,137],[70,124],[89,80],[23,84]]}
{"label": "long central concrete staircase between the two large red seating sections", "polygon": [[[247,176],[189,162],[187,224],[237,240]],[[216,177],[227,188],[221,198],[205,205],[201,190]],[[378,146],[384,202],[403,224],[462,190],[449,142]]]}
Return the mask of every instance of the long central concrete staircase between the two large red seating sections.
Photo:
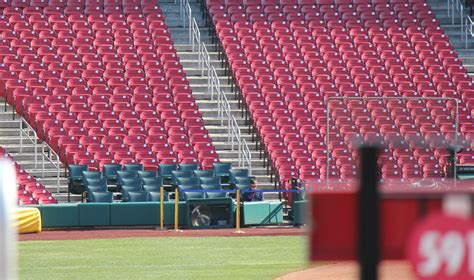
{"label": "long central concrete staircase between the two large red seating sections", "polygon": [[[242,111],[238,107],[238,100],[235,94],[231,92],[231,85],[228,83],[227,76],[224,75],[224,68],[221,65],[221,61],[218,60],[218,53],[216,47],[211,42],[212,37],[209,35],[208,28],[205,26],[206,23],[201,13],[200,4],[190,3],[190,6],[200,29],[201,41],[206,44],[211,63],[219,75],[221,88],[230,103],[231,114],[237,120],[242,138],[247,141],[251,150],[252,175],[256,176],[259,188],[273,189],[274,184],[270,182],[270,175],[267,175],[267,170],[263,167],[263,159],[259,158],[260,152],[256,149],[255,141],[252,141],[249,127],[245,124]],[[160,1],[160,7],[171,31],[178,56],[180,57],[181,64],[184,67],[184,71],[193,90],[194,98],[203,115],[204,125],[209,131],[216,151],[219,154],[219,158],[221,161],[231,162],[234,167],[237,167],[238,151],[237,149],[231,150],[231,144],[227,142],[227,128],[220,125],[221,120],[218,117],[217,102],[211,100],[211,94],[208,92],[207,71],[204,73],[205,76],[201,76],[198,54],[197,52],[192,52],[192,47],[189,44],[189,30],[182,28],[182,22],[179,18],[179,4],[174,4],[174,2],[171,1]]]}

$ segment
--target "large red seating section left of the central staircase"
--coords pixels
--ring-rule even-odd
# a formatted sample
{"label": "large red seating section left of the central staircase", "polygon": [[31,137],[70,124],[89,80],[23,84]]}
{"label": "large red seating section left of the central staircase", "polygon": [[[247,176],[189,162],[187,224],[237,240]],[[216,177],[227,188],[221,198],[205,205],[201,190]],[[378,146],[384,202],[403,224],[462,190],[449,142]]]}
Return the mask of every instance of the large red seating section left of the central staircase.
{"label": "large red seating section left of the central staircase", "polygon": [[219,161],[156,2],[0,3],[0,94],[63,163]]}

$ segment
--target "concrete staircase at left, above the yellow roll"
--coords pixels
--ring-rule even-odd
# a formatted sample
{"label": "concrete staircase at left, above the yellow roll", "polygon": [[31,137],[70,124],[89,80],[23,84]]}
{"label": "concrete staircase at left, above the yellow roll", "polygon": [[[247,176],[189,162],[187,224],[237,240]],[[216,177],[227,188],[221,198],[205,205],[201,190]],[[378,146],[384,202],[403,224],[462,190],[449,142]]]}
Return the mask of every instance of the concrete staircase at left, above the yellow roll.
{"label": "concrete staircase at left, above the yellow roll", "polygon": [[[0,147],[13,156],[13,159],[20,164],[30,175],[43,183],[46,189],[54,194],[59,202],[67,201],[67,178],[64,174],[64,166],[61,168],[61,177],[59,180],[59,191],[57,193],[57,169],[45,161],[44,176],[41,164],[41,145],[38,143],[37,164],[35,167],[35,149],[34,144],[26,137],[22,140],[22,149],[20,149],[20,116],[13,112],[13,107],[4,105],[4,100],[0,99]],[[13,117],[15,116],[15,117]],[[71,196],[72,201],[80,200],[80,196]]]}

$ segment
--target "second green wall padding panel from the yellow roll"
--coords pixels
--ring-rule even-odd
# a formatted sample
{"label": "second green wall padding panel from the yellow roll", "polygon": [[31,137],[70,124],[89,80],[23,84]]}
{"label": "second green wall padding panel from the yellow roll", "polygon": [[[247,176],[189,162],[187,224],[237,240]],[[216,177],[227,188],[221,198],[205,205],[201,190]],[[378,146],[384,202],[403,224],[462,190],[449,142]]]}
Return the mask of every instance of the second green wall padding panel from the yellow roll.
{"label": "second green wall padding panel from the yellow roll", "polygon": [[81,203],[80,226],[110,226],[110,203]]}

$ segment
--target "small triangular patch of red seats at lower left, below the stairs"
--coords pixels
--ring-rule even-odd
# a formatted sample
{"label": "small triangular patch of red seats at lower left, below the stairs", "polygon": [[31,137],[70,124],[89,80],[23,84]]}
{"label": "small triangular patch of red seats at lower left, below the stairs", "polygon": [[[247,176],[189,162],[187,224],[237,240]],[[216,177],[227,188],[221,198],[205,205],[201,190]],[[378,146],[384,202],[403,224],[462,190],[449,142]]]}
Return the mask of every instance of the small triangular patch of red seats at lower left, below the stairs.
{"label": "small triangular patch of red seats at lower left, below the stairs", "polygon": [[19,205],[30,204],[54,204],[58,203],[53,195],[46,190],[43,184],[36,181],[36,178],[29,175],[20,165],[0,147],[0,158],[9,159],[15,166],[17,178],[17,195]]}

